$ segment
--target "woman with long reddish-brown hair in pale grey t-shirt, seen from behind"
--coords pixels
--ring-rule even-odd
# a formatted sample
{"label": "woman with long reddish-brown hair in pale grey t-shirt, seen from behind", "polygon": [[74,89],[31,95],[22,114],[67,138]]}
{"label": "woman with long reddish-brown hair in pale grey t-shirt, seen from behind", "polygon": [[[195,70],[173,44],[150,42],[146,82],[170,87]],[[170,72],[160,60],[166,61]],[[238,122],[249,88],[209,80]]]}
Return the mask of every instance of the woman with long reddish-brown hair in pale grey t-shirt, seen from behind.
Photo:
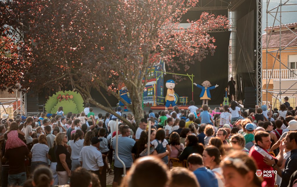
{"label": "woman with long reddish-brown hair in pale grey t-shirt, seen from behind", "polygon": [[39,165],[48,165],[48,142],[44,134],[40,135],[38,138],[38,143],[34,144],[31,153],[32,153],[32,162],[31,162],[31,173]]}

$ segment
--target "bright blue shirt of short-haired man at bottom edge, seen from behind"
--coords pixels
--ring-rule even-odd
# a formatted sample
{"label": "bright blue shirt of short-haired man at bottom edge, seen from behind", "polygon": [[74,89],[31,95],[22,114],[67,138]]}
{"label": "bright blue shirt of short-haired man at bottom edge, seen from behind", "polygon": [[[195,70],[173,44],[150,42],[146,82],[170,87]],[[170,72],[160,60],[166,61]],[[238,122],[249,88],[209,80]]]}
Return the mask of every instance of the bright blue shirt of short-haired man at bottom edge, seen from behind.
{"label": "bright blue shirt of short-haired man at bottom edge, seen from behind", "polygon": [[193,171],[196,175],[198,183],[200,186],[211,186],[211,187],[218,187],[218,180],[214,172],[207,169],[206,167],[200,167],[197,170]]}

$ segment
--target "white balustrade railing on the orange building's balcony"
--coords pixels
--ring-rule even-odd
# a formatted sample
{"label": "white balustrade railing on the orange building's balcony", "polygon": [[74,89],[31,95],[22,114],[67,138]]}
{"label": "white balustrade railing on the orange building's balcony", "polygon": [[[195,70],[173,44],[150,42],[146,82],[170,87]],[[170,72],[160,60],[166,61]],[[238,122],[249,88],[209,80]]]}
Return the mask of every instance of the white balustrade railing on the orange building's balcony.
{"label": "white balustrade railing on the orange building's balcony", "polygon": [[268,69],[266,70],[262,70],[262,77],[263,79],[267,80],[269,79],[269,77],[271,76],[271,80],[279,80],[280,79],[297,79],[297,69],[291,69],[293,72],[291,72],[288,69]]}

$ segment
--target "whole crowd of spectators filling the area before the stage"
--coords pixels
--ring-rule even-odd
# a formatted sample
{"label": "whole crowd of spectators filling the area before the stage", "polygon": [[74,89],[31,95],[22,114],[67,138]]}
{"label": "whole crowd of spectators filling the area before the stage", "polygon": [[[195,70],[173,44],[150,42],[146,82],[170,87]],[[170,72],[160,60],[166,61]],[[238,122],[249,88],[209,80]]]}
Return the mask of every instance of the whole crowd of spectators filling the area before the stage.
{"label": "whole crowd of spectators filling the area before the stage", "polygon": [[[241,111],[232,101],[211,110],[190,103],[188,110],[150,110],[135,133],[115,115],[95,116],[89,103],[65,116],[63,107],[40,116],[4,114],[1,186],[104,187],[107,173],[114,187],[297,185],[297,107]],[[131,114],[114,110],[135,125]]]}

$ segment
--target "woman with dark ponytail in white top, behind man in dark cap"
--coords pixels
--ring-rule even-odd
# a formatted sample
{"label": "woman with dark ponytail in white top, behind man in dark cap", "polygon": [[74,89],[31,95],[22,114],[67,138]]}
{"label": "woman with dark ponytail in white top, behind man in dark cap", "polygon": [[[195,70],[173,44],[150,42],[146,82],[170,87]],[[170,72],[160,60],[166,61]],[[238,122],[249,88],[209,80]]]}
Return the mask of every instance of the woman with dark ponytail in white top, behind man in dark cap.
{"label": "woman with dark ponytail in white top, behind man in dark cap", "polygon": [[71,154],[71,171],[74,171],[76,168],[81,167],[80,161],[78,161],[79,153],[83,148],[83,132],[81,130],[76,130],[74,139],[69,141],[69,153]]}

